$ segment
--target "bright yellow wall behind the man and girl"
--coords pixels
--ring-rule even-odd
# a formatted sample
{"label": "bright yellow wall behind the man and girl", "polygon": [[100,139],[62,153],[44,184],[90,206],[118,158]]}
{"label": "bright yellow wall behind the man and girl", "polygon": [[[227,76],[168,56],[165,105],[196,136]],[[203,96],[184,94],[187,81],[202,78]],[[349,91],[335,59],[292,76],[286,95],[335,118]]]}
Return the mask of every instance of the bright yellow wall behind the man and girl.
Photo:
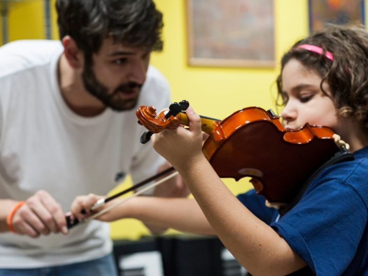
{"label": "bright yellow wall behind the man and girl", "polygon": [[[271,85],[278,75],[275,68],[220,68],[187,65],[186,4],[185,0],[155,0],[164,14],[165,49],[154,53],[152,64],[169,80],[174,101],[188,100],[195,110],[214,118],[246,106],[273,108]],[[43,1],[28,0],[12,5],[9,13],[9,39],[43,38]],[[52,1],[54,6],[55,0]],[[292,43],[308,34],[307,0],[274,0],[276,59]],[[53,11],[53,38],[57,39],[56,14]],[[262,34],[260,34],[262,35]],[[275,86],[273,85],[273,91]],[[226,180],[234,193],[245,191],[247,181]],[[129,185],[124,183],[124,187]],[[139,238],[148,234],[141,222],[126,219],[112,223],[113,238]]]}

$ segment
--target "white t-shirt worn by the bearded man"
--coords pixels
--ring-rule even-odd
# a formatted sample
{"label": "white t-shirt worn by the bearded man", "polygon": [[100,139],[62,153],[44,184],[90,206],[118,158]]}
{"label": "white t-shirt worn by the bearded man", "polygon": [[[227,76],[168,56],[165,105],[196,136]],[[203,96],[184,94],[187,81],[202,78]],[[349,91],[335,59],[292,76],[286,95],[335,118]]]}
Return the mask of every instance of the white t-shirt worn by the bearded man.
{"label": "white t-shirt worn by the bearded man", "polygon": [[[57,81],[59,41],[23,40],[0,48],[0,198],[24,200],[48,191],[67,212],[77,195],[106,194],[116,177],[134,182],[156,173],[164,159],[150,143],[135,110],[85,118],[64,102]],[[169,86],[150,66],[137,106],[170,104]],[[122,181],[120,177],[119,182]],[[0,267],[32,268],[87,261],[112,249],[108,223],[91,221],[67,236],[33,239],[0,234]]]}

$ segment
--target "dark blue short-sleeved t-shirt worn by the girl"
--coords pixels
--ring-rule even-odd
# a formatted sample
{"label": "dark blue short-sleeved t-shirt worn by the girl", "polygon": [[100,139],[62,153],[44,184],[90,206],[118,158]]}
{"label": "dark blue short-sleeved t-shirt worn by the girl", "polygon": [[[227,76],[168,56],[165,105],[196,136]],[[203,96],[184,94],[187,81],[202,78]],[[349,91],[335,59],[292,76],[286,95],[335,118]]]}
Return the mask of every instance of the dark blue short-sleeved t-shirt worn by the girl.
{"label": "dark blue short-sleeved t-shirt worn by the girl", "polygon": [[321,172],[278,221],[254,190],[238,195],[316,275],[368,275],[368,147],[354,157]]}

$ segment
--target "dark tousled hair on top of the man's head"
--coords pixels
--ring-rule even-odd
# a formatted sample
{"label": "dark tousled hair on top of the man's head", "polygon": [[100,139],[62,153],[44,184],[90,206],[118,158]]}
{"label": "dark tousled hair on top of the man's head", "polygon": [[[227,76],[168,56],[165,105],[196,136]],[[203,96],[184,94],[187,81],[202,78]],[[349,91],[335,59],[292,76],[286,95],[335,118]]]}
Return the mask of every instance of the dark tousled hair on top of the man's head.
{"label": "dark tousled hair on top of the man's head", "polygon": [[106,38],[127,47],[161,51],[162,13],[152,0],[57,0],[60,39],[70,35],[86,56]]}

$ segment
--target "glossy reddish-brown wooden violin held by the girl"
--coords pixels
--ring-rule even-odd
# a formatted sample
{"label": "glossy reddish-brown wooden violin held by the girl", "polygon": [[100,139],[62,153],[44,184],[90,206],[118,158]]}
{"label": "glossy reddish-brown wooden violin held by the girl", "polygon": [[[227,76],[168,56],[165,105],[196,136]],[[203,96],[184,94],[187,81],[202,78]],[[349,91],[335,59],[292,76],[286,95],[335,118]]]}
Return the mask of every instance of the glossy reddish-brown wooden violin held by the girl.
{"label": "glossy reddish-brown wooden violin held by the girl", "polygon": [[[188,126],[186,113],[177,109],[159,114],[152,106],[137,109],[139,124],[149,130],[141,142],[147,143],[147,136],[163,129]],[[209,134],[203,154],[218,176],[236,181],[251,177],[257,193],[275,205],[290,203],[319,167],[349,146],[336,143],[337,136],[329,127],[306,124],[286,130],[280,117],[260,107],[240,109],[223,120],[201,116],[201,127]]]}

